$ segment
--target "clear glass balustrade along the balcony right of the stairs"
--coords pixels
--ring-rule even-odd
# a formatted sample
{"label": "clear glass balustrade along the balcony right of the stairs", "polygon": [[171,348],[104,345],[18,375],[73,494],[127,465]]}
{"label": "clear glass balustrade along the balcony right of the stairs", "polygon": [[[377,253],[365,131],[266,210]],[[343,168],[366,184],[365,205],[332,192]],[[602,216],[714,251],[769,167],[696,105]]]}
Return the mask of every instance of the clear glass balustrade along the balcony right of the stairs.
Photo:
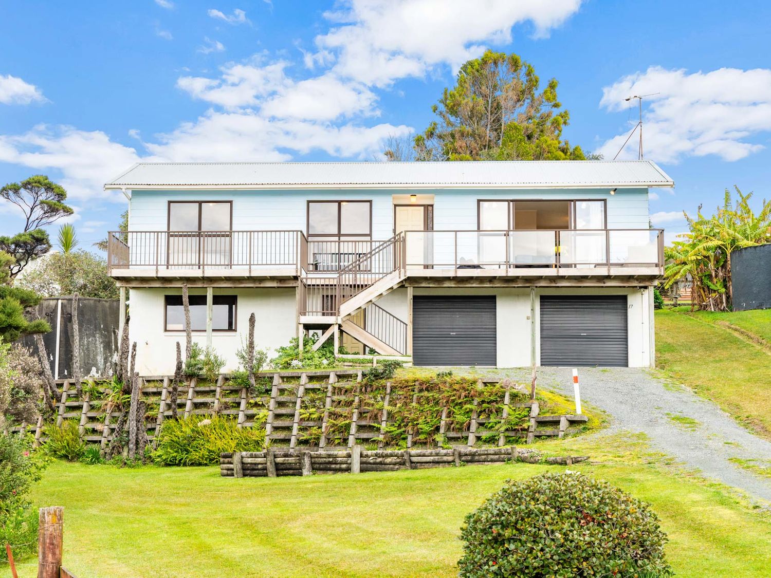
{"label": "clear glass balustrade along the balcony right of the stairs", "polygon": [[406,231],[406,268],[663,267],[661,229]]}

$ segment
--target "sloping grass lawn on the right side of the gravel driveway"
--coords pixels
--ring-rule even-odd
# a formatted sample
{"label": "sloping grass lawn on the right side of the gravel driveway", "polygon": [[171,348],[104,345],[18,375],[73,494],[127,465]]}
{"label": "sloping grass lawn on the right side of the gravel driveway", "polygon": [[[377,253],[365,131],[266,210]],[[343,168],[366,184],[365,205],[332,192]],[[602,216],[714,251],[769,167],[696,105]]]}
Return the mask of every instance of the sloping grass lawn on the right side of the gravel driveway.
{"label": "sloping grass lawn on the right side of the gravel driveway", "polygon": [[771,343],[771,310],[656,311],[656,365],[771,439],[771,355],[722,324]]}

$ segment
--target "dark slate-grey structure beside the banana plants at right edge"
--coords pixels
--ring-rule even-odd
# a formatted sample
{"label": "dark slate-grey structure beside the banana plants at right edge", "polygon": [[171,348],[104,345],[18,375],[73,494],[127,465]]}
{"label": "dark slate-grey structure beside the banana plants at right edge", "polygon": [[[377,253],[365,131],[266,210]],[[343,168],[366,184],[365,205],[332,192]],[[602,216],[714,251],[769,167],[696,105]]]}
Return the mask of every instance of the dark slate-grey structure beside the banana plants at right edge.
{"label": "dark slate-grey structure beside the banana plants at right edge", "polygon": [[731,283],[734,311],[771,308],[771,244],[733,251]]}

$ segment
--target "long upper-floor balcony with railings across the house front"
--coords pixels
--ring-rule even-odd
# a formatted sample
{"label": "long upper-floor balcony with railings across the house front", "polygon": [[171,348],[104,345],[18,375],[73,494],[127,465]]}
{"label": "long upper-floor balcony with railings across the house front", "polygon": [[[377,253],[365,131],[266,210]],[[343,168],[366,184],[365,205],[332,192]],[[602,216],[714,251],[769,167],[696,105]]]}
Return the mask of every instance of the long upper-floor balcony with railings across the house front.
{"label": "long upper-floor balcony with railings across the house front", "polygon": [[[346,277],[382,276],[397,263],[408,277],[658,277],[663,272],[660,229],[401,235],[399,244],[384,251],[389,241],[308,240],[299,230],[111,231],[107,263],[113,277],[124,279],[285,278],[296,283],[303,277],[324,286],[336,284],[340,271]],[[394,250],[402,254],[389,257]]]}

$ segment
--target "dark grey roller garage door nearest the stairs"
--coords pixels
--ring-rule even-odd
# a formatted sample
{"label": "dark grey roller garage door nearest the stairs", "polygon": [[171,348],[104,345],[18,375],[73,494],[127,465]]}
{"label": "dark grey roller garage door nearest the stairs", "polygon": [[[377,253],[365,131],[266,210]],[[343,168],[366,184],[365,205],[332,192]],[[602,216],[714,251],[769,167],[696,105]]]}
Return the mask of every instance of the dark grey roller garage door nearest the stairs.
{"label": "dark grey roller garage door nearest the stairs", "polygon": [[495,296],[412,299],[415,365],[496,365]]}

